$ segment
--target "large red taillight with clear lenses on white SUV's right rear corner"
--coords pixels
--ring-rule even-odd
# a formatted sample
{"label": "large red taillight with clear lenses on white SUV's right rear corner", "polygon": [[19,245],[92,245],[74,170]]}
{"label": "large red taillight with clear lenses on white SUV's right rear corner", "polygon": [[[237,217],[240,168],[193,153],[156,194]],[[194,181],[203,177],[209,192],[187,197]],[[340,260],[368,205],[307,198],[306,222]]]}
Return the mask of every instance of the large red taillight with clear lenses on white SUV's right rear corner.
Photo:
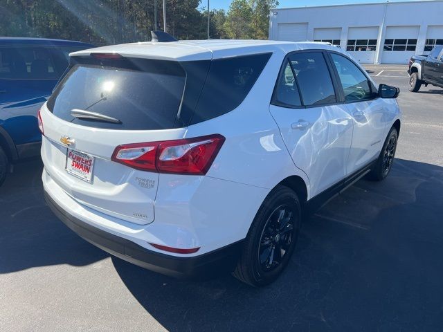
{"label": "large red taillight with clear lenses on white SUV's right rear corner", "polygon": [[119,145],[111,160],[143,171],[204,175],[225,138],[215,134],[183,140]]}

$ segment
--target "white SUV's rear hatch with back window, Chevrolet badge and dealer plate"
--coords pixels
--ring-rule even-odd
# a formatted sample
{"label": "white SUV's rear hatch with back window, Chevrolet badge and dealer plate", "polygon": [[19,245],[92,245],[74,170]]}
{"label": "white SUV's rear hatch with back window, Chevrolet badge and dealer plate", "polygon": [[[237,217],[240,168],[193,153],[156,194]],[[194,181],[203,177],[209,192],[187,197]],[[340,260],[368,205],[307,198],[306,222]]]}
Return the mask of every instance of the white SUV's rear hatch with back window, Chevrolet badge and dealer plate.
{"label": "white SUV's rear hatch with back window, Chevrolet badge and dealer plate", "polygon": [[101,53],[73,58],[41,112],[46,172],[93,210],[133,223],[154,221],[159,174],[111,157],[119,145],[183,138],[200,93],[185,94],[186,82],[204,80],[210,61],[198,63],[198,70],[189,63],[191,76],[186,62]]}

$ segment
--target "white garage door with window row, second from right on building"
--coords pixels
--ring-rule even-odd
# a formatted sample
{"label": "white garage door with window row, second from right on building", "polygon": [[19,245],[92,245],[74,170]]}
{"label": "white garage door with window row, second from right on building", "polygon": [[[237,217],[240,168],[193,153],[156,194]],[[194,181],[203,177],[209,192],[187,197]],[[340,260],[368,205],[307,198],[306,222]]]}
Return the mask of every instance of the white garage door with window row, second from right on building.
{"label": "white garage door with window row, second from right on building", "polygon": [[382,64],[407,64],[415,55],[419,26],[388,26],[386,27]]}

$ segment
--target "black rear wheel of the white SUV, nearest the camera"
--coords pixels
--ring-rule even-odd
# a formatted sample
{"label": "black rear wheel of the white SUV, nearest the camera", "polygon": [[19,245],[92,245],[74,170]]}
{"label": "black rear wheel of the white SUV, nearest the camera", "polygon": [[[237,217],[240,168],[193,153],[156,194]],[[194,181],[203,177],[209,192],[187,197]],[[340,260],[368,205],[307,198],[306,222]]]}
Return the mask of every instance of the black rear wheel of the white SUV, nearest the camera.
{"label": "black rear wheel of the white SUV, nearest the camera", "polygon": [[266,197],[253,220],[234,277],[255,287],[275,281],[289,263],[300,224],[297,194],[278,185]]}

